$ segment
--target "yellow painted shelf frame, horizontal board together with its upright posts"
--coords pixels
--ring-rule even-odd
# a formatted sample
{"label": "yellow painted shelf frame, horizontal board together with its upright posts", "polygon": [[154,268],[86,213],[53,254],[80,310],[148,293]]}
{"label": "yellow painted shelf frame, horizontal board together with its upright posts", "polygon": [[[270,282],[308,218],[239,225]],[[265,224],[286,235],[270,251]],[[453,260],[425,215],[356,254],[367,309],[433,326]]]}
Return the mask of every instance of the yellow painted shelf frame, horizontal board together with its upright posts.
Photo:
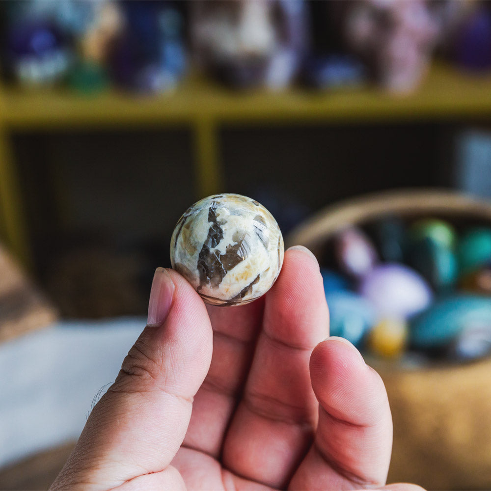
{"label": "yellow painted shelf frame, horizontal board together with its upright posts", "polygon": [[0,236],[29,263],[10,135],[22,131],[73,128],[129,128],[185,125],[193,132],[196,196],[222,190],[218,128],[234,123],[332,123],[376,121],[491,121],[491,74],[477,76],[434,66],[412,94],[388,94],[377,87],[284,92],[227,90],[195,77],[175,92],[137,96],[110,90],[80,95],[68,90],[27,90],[0,85]]}

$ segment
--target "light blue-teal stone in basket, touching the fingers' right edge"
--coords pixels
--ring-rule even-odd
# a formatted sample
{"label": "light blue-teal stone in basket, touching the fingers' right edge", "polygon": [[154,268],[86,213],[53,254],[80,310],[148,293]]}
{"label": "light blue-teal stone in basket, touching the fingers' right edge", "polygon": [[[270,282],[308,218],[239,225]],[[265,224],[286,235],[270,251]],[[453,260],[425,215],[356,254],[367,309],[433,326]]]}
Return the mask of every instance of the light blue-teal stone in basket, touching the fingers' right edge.
{"label": "light blue-teal stone in basket, touching the fingers' right edge", "polygon": [[354,292],[326,294],[331,336],[341,336],[359,346],[365,333],[377,321],[374,307]]}

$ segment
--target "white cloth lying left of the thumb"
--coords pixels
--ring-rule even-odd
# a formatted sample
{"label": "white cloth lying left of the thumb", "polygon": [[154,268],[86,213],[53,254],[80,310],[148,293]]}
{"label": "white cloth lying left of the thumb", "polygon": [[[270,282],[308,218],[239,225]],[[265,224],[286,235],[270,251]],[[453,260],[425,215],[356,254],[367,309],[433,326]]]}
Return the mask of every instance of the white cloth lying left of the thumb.
{"label": "white cloth lying left of the thumb", "polygon": [[0,344],[0,467],[76,439],[145,322],[64,321]]}

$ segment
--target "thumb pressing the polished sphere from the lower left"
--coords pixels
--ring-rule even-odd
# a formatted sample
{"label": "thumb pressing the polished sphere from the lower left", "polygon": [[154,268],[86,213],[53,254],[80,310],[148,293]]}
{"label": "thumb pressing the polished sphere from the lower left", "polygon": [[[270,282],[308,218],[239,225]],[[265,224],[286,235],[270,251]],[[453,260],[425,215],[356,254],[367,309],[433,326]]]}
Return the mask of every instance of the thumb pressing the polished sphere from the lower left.
{"label": "thumb pressing the polished sphere from the lower left", "polygon": [[158,479],[159,487],[182,487],[169,463],[210,366],[212,328],[203,301],[172,270],[155,272],[148,311],[147,326],[90,414],[52,490],[112,489],[141,476]]}

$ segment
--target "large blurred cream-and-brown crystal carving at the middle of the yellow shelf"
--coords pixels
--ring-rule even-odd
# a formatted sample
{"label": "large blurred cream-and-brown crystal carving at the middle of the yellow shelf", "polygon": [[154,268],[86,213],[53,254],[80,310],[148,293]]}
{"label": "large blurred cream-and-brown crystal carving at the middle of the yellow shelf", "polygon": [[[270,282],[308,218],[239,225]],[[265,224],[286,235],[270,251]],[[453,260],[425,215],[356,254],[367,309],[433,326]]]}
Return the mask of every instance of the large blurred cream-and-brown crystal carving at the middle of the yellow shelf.
{"label": "large blurred cream-and-brown crystal carving at the middle of the yellow shelf", "polygon": [[198,66],[233,87],[283,88],[307,50],[301,0],[191,2],[190,32]]}

